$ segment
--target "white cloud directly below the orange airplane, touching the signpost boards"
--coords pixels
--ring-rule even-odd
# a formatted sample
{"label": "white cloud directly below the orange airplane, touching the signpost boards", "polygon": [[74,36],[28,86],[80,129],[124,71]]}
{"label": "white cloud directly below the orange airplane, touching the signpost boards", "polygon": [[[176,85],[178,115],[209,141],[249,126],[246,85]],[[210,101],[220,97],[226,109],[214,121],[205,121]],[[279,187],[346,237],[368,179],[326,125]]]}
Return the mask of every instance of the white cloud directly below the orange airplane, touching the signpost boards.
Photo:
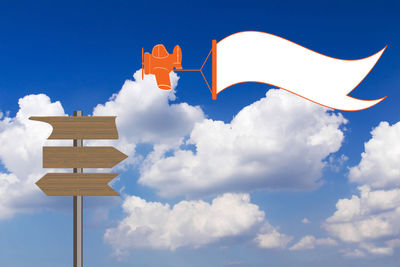
{"label": "white cloud directly below the orange airplane, touching the signpost boards", "polygon": [[170,103],[176,99],[179,78],[175,73],[170,74],[172,90],[169,91],[160,90],[153,75],[142,80],[141,70],[134,74],[134,79],[127,80],[118,94],[93,110],[94,116],[117,116],[119,140],[114,143],[131,157],[128,163],[134,159],[137,144],[176,147],[194,124],[204,119],[200,107]]}

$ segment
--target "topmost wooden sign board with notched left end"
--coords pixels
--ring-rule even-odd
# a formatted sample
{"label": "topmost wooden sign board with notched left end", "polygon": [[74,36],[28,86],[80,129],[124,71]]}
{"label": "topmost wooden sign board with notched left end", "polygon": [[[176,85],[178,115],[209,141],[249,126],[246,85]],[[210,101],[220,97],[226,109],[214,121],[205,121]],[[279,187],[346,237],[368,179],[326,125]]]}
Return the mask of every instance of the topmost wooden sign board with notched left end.
{"label": "topmost wooden sign board with notched left end", "polygon": [[115,116],[30,117],[53,127],[48,139],[118,139]]}

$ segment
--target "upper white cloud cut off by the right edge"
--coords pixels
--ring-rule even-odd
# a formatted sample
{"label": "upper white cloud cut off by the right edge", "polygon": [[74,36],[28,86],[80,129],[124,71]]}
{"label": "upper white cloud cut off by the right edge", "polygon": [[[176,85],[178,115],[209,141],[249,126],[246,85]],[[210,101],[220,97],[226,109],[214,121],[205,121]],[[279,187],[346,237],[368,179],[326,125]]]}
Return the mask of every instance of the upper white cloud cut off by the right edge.
{"label": "upper white cloud cut off by the right edge", "polygon": [[381,122],[365,143],[361,162],[350,169],[349,180],[372,188],[400,187],[400,122]]}

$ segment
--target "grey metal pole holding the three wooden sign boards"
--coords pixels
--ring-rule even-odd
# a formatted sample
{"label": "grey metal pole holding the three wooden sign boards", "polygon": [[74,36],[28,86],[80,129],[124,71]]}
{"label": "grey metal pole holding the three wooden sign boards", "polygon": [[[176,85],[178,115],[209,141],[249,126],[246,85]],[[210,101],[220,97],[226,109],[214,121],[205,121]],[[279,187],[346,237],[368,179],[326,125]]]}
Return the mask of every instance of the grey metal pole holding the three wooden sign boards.
{"label": "grey metal pole holding the three wooden sign boards", "polygon": [[[82,111],[74,111],[74,116],[82,116]],[[82,139],[74,139],[74,147],[82,147]],[[82,173],[82,168],[74,168],[74,173]],[[83,196],[74,196],[74,267],[82,267],[83,261]]]}

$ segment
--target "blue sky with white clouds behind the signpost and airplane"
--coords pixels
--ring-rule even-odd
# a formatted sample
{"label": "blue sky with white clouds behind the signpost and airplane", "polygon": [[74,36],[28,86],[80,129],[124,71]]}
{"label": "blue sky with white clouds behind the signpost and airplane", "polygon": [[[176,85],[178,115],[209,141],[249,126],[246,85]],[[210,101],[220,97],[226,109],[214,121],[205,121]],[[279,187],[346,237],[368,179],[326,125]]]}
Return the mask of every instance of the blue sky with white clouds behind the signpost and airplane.
{"label": "blue sky with white clouds behind the signpost and airplane", "polygon": [[[130,156],[123,168],[114,170],[121,172],[113,184],[121,190],[121,198],[85,198],[85,265],[396,266],[400,253],[396,227],[400,220],[396,211],[400,204],[400,176],[396,176],[400,173],[399,12],[396,1],[1,2],[2,265],[72,264],[72,199],[46,197],[35,189],[33,182],[46,172],[40,168],[40,158],[49,129],[28,123],[26,117],[72,114],[79,109],[84,114],[123,118],[119,131],[125,140],[115,145]],[[388,45],[371,73],[350,94],[361,99],[388,97],[367,110],[332,113],[269,86],[247,83],[223,91],[213,101],[198,73],[178,73],[176,93],[171,93],[176,99],[168,102],[168,95],[152,86],[153,80],[135,81],[132,76],[141,67],[142,47],[151,51],[163,43],[172,51],[179,44],[183,67],[197,68],[212,39],[244,30],[272,33],[343,59],[363,58]],[[173,81],[177,79],[174,75]],[[117,95],[110,99],[113,94]],[[280,115],[283,100],[295,107],[287,114],[312,117],[315,125],[300,127]],[[246,113],[260,127],[246,132],[249,139],[240,139],[246,129],[234,126],[240,125],[239,119],[237,124],[231,120],[239,112],[244,114],[246,106],[270,112],[265,116]],[[224,135],[218,121],[233,130]],[[380,124],[383,121],[388,124]],[[196,128],[196,122],[202,127]],[[334,128],[321,148],[293,141],[296,135],[300,140],[307,138],[307,131],[319,133],[318,123]],[[269,130],[276,125],[287,131]],[[256,151],[257,161],[268,166],[276,159],[285,171],[275,170],[278,180],[274,183],[267,173],[239,178],[224,174],[227,182],[214,186],[207,177],[217,170],[209,168],[207,158],[187,153],[221,149],[222,156],[229,156],[236,150],[204,145],[209,131],[227,140],[238,138],[232,141],[234,146],[251,145],[246,142],[259,138],[290,148],[278,154]],[[271,134],[277,138],[268,139]],[[192,144],[182,143],[188,139]],[[226,160],[231,159],[228,156]],[[200,181],[208,181],[206,189],[188,188],[185,175],[168,165],[168,158],[178,166],[189,160],[199,164],[199,171],[191,170],[190,177],[205,175]],[[321,162],[326,166],[319,166]],[[296,173],[294,167],[304,165],[312,171]],[[171,171],[155,175],[163,166]],[[302,188],[280,189],[280,175]],[[13,179],[18,181],[10,183]],[[317,187],[302,184],[316,180],[322,182]],[[176,194],[163,192],[166,184],[173,183]],[[363,195],[359,186],[364,188]],[[135,208],[141,221],[135,221]],[[169,218],[171,225],[164,226],[160,218]],[[305,218],[310,223],[302,223]],[[209,224],[196,228],[195,222],[201,220]],[[127,233],[123,228],[127,225],[139,225],[150,234]],[[181,238],[162,239],[173,231]],[[264,245],[257,242],[260,235]]]}

